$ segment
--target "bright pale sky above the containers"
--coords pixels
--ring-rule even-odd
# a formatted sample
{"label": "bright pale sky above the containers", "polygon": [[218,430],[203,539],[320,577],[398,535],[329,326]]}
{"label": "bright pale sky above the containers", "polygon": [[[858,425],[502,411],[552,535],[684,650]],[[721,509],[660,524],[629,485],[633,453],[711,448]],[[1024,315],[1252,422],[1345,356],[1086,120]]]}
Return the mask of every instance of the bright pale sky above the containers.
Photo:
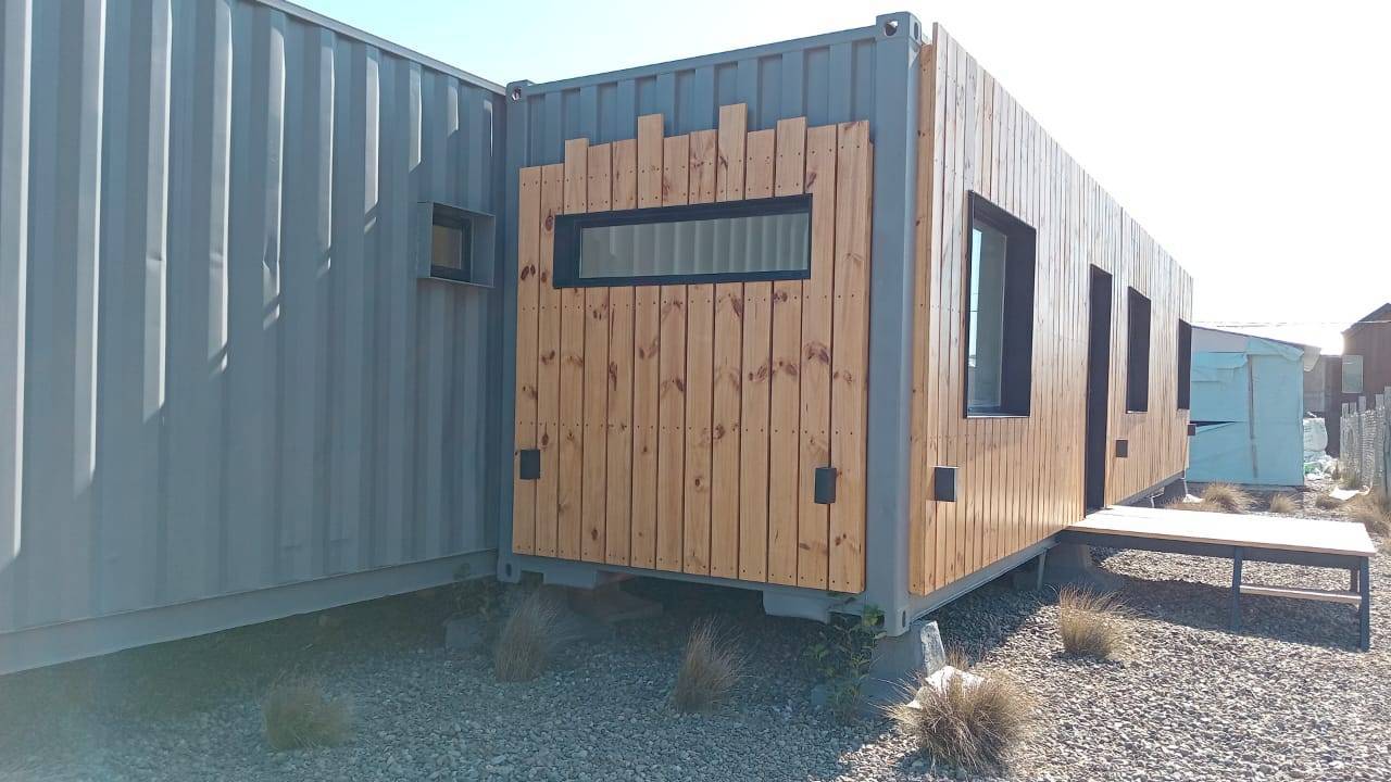
{"label": "bright pale sky above the containers", "polygon": [[299,0],[495,82],[942,22],[1196,278],[1200,321],[1337,349],[1391,299],[1391,4]]}

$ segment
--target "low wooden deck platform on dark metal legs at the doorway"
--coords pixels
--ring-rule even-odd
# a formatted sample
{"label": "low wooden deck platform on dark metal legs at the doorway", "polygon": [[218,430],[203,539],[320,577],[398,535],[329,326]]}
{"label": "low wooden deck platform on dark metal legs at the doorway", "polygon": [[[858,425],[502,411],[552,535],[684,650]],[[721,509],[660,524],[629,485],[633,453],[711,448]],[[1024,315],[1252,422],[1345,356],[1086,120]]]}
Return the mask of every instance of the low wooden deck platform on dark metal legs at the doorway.
{"label": "low wooden deck platform on dark metal legs at the doorway", "polygon": [[[1372,557],[1367,530],[1352,522],[1251,516],[1202,511],[1114,506],[1088,515],[1059,534],[1059,543],[1139,548],[1232,561],[1231,625],[1241,630],[1241,596],[1326,600],[1356,608],[1359,640],[1372,647]],[[1242,584],[1244,561],[1338,568],[1349,573],[1346,591]]]}

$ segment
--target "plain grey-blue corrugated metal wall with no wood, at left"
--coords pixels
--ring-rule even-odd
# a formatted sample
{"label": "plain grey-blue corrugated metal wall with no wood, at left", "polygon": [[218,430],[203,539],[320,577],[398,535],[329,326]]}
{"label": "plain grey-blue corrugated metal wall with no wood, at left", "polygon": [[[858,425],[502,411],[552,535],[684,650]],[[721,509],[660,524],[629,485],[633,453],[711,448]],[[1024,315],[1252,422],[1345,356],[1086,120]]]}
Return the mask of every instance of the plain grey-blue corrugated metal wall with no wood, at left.
{"label": "plain grey-blue corrugated metal wall with no wood, at left", "polygon": [[0,8],[0,632],[495,547],[499,296],[410,214],[501,209],[497,89],[275,3]]}

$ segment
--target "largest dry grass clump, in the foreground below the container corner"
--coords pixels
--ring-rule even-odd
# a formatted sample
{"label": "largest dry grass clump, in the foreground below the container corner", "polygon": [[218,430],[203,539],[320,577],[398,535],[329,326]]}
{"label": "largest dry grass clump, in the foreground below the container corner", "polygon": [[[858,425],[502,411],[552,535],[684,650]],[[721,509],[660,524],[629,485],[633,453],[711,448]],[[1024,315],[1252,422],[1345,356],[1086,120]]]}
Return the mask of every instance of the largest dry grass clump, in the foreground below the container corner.
{"label": "largest dry grass clump, in the foreground below the container corner", "polygon": [[[947,664],[965,669],[951,657]],[[1029,693],[992,673],[975,685],[951,676],[942,690],[924,685],[912,703],[893,707],[889,715],[919,750],[981,775],[1004,771],[1011,750],[1034,721],[1035,707]]]}

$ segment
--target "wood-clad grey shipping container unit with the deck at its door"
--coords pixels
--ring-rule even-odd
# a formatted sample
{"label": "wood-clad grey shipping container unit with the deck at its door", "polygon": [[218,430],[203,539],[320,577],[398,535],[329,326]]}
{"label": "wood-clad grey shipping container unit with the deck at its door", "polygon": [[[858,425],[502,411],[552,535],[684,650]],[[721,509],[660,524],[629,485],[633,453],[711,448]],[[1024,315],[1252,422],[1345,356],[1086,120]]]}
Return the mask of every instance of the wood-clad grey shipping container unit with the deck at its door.
{"label": "wood-clad grey shipping container unit with the deck at its door", "polygon": [[1188,276],[922,32],[509,85],[505,577],[896,635],[1184,470]]}

